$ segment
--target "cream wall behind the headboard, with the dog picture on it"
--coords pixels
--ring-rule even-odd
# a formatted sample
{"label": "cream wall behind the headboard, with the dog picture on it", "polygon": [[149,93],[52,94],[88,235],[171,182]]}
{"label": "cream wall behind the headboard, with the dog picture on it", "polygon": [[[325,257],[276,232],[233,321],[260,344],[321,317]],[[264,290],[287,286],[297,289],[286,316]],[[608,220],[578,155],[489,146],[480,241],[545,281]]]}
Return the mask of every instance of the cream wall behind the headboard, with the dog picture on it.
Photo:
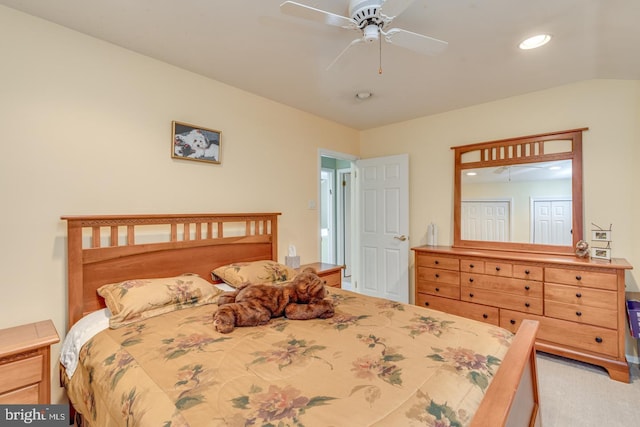
{"label": "cream wall behind the headboard, with the dog picture on it", "polygon": [[[280,258],[317,260],[318,150],[355,130],[1,6],[0,57],[0,328],[63,334],[61,215],[278,211]],[[171,159],[172,120],[221,130],[222,165]]]}

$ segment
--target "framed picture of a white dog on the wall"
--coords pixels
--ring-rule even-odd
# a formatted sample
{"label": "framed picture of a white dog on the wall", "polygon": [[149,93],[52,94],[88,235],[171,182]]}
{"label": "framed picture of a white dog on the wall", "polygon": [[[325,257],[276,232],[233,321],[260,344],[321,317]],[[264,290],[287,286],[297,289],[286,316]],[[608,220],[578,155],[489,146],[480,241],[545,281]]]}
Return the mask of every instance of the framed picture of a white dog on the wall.
{"label": "framed picture of a white dog on the wall", "polygon": [[171,157],[220,164],[220,132],[200,126],[171,122]]}

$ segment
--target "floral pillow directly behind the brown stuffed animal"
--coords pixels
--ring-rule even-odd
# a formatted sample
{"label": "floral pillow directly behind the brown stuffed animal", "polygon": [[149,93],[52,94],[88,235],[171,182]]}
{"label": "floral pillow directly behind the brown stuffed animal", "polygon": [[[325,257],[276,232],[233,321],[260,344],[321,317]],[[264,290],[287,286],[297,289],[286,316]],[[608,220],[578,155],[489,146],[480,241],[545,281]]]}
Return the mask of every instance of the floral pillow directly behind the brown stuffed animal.
{"label": "floral pillow directly behind the brown stuffed animal", "polygon": [[215,277],[233,287],[246,282],[288,282],[298,274],[293,268],[270,260],[227,264],[216,268],[212,273]]}

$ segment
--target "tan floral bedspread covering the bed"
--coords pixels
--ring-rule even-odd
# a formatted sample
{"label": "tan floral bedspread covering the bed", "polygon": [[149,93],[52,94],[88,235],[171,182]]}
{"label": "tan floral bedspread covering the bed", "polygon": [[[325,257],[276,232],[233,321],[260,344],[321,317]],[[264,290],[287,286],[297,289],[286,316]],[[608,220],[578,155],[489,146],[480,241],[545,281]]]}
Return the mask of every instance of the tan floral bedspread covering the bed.
{"label": "tan floral bedspread covering the bed", "polygon": [[215,304],[93,337],[66,381],[93,426],[464,426],[513,335],[330,289],[331,319],[215,332]]}

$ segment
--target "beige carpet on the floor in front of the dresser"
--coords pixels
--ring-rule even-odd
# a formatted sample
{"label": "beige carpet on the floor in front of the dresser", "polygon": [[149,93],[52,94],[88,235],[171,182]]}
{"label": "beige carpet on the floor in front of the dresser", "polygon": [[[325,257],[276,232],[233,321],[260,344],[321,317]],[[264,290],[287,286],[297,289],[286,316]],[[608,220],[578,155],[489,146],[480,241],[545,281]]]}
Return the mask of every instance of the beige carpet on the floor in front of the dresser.
{"label": "beige carpet on the floor in front of the dresser", "polygon": [[640,425],[640,369],[631,365],[631,383],[609,379],[598,366],[538,353],[543,427]]}

